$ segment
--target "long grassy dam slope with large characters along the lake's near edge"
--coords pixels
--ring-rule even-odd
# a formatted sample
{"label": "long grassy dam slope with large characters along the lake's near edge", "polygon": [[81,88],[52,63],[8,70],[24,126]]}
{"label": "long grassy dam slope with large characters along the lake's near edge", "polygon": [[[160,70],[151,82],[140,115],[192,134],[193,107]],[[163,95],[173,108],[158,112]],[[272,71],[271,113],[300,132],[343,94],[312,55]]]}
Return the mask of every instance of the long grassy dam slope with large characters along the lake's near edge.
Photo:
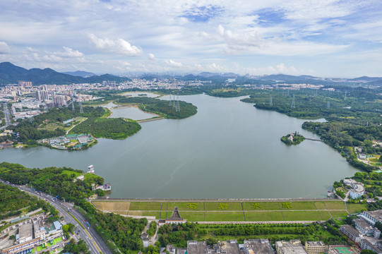
{"label": "long grassy dam slope with large characters along the lake's near edge", "polygon": [[[275,201],[275,202],[139,202],[93,201],[95,207],[118,214],[150,216],[166,219],[174,207],[189,222],[266,222],[266,221],[323,221],[343,217],[366,209],[363,204],[342,201]],[[244,212],[244,214],[243,214]],[[330,216],[331,214],[331,216]]]}

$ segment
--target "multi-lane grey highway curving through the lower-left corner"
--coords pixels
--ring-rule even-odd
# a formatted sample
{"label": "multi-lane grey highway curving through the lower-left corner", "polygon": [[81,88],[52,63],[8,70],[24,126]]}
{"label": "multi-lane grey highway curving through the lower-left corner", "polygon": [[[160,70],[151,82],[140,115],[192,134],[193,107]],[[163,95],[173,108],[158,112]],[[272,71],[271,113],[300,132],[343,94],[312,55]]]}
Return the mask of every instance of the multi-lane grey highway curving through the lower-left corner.
{"label": "multi-lane grey highway curving through the lower-left corner", "polygon": [[[79,238],[82,238],[83,241],[85,241],[85,243],[90,248],[90,253],[98,254],[101,252],[103,254],[112,254],[112,252],[109,250],[109,248],[107,248],[102,238],[95,232],[95,229],[87,225],[83,215],[80,212],[78,212],[76,209],[74,209],[71,203],[54,200],[54,197],[52,195],[49,195],[46,193],[39,193],[37,191],[32,191],[31,188],[28,188],[25,186],[18,186],[16,184],[7,183],[6,181],[3,181],[3,183],[13,187],[17,187],[22,191],[28,192],[30,195],[35,195],[38,198],[42,198],[46,200],[47,202],[49,202],[51,205],[53,205],[54,208],[56,208],[56,210],[59,210],[59,212],[63,214],[65,222],[73,224],[75,226],[76,233],[79,231],[77,236],[79,236]],[[68,214],[68,211],[70,211],[73,217],[76,217],[78,222],[80,222],[80,224],[82,224],[82,226],[85,229],[83,229],[83,227],[78,224],[76,219],[71,217],[71,214]]]}

